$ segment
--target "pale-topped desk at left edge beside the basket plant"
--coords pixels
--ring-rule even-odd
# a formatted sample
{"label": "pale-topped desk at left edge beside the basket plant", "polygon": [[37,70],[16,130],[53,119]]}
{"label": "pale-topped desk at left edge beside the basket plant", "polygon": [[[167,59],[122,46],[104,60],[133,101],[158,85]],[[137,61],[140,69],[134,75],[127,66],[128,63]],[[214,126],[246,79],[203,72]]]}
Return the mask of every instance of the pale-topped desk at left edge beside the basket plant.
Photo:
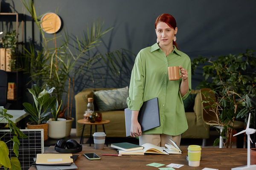
{"label": "pale-topped desk at left edge beside the basket plant", "polygon": [[[17,123],[20,121],[21,129],[25,129],[26,122],[24,118],[29,115],[28,113],[26,113],[23,110],[8,110],[7,113],[13,116],[13,118],[10,119],[12,120],[12,122]],[[0,117],[0,120],[1,120],[1,117]],[[0,123],[8,123],[8,121],[6,119],[3,119],[2,121],[0,121]]]}

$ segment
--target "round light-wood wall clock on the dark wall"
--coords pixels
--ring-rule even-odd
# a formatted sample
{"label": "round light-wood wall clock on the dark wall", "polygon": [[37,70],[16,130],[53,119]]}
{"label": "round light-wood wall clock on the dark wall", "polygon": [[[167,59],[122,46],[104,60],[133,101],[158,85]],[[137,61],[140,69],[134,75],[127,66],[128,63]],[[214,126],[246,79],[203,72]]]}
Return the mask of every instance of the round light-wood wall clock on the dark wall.
{"label": "round light-wood wall clock on the dark wall", "polygon": [[41,28],[48,34],[57,32],[61,28],[60,17],[52,12],[44,14],[41,17]]}

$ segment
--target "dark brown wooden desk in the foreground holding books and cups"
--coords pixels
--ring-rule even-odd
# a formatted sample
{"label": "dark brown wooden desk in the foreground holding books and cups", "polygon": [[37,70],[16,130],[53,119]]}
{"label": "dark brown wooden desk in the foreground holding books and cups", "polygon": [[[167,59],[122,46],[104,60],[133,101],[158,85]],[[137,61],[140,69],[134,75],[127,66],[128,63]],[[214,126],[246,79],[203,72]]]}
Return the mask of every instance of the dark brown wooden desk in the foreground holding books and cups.
{"label": "dark brown wooden desk in the foreground holding books and cups", "polygon": [[[103,150],[96,150],[94,147],[84,146],[82,152],[73,153],[79,155],[75,164],[79,170],[158,170],[157,167],[146,166],[153,162],[166,165],[184,164],[178,170],[202,170],[204,167],[215,168],[219,170],[231,170],[234,167],[247,165],[247,149],[226,149],[226,148],[202,148],[202,160],[199,167],[189,167],[186,160],[187,148],[181,148],[182,154],[170,155],[124,155],[124,156],[102,156],[104,153],[116,154],[116,150],[111,147],[104,147]],[[101,157],[99,160],[88,160],[83,153],[94,152]],[[58,153],[54,146],[50,146],[44,153]],[[36,170],[35,165],[29,170]]]}

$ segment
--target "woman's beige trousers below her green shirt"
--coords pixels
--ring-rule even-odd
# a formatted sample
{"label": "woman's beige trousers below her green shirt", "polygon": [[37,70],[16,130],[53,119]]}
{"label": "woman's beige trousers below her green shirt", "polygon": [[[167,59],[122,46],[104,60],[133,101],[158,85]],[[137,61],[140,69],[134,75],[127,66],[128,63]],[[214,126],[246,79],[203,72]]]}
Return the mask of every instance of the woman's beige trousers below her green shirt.
{"label": "woman's beige trousers below her green shirt", "polygon": [[172,144],[169,139],[172,139],[178,147],[180,147],[181,134],[177,136],[171,136],[166,134],[142,134],[139,137],[140,146],[145,143],[151,143],[156,146],[165,147],[164,145],[168,142]]}

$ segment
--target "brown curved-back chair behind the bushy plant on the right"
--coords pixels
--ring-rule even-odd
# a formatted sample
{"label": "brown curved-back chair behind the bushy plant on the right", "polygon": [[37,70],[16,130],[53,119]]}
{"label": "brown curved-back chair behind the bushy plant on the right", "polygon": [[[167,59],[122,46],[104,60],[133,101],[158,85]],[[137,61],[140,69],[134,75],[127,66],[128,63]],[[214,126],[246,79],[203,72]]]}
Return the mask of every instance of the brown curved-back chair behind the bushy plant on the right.
{"label": "brown curved-back chair behind the bushy plant on the right", "polygon": [[[207,93],[213,101],[210,100],[209,98],[205,98],[204,93]],[[201,101],[209,101],[208,103],[206,103],[206,102],[202,103],[202,117],[203,117],[204,122],[207,125],[212,125],[212,126],[219,128],[220,132],[222,132],[224,127],[219,125],[215,112],[212,111],[212,108],[207,108],[207,106],[209,106],[209,105],[211,106],[212,104],[214,104],[214,102],[216,102],[215,94],[209,88],[202,88],[200,90],[200,94],[201,94]],[[235,120],[233,127],[234,127],[234,129],[244,128],[244,122]],[[221,136],[220,136],[219,143],[220,143],[219,147],[223,148],[223,142],[222,142]]]}

